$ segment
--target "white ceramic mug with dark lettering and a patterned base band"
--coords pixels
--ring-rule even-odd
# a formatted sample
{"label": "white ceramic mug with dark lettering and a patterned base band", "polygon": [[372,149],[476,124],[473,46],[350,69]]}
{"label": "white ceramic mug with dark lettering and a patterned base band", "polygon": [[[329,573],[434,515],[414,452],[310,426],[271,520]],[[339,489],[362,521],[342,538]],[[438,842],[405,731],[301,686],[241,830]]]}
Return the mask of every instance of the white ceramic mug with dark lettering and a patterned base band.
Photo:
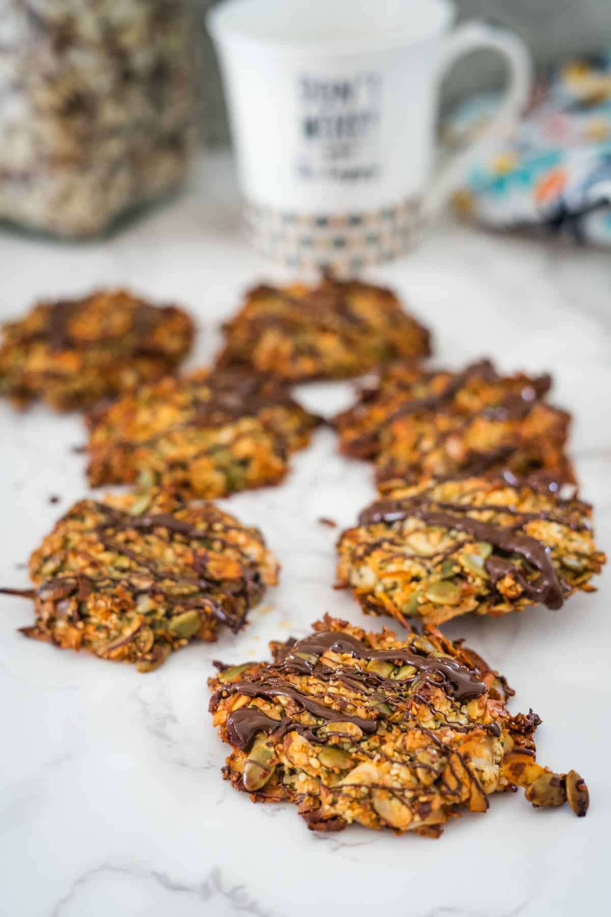
{"label": "white ceramic mug with dark lettering and a patterned base band", "polygon": [[[452,30],[452,0],[226,0],[208,16],[256,247],[291,267],[355,271],[418,238],[529,95],[516,36]],[[435,169],[442,77],[469,51],[509,68],[496,117]]]}

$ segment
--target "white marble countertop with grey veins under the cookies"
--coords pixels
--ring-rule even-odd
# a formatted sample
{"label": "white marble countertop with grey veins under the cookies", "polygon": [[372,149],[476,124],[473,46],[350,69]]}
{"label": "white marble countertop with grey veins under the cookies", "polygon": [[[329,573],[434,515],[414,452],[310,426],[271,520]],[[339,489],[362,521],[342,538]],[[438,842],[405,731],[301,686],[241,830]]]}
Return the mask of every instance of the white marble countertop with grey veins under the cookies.
{"label": "white marble countertop with grey veins under the cookies", "polygon": [[[209,158],[192,188],[111,240],[88,245],[0,235],[0,314],[38,296],[126,284],[189,306],[201,324],[191,363],[208,359],[217,326],[245,285],[278,276],[245,248],[231,163]],[[506,370],[551,370],[555,400],[575,414],[573,456],[611,542],[611,256],[437,227],[409,257],[371,271],[432,326],[437,358],[490,354]],[[347,384],[318,385],[308,403],[332,413]],[[86,491],[76,416],[0,405],[3,550],[0,582],[27,584],[22,564],[54,519]],[[60,503],[52,505],[49,496]],[[543,719],[539,760],[579,770],[585,819],[534,811],[521,792],[491,800],[431,841],[358,827],[309,832],[290,806],[252,805],[221,779],[226,748],[207,713],[211,660],[263,657],[271,636],[303,635],[330,611],[364,619],[333,591],[336,531],[373,495],[371,472],[322,431],[278,488],[228,503],[260,525],[282,581],[239,637],[191,645],[149,675],[24,639],[27,602],[2,598],[0,617],[0,914],[3,917],[545,917],[608,907],[607,733],[609,588],[498,621],[459,620],[517,688],[513,711]]]}

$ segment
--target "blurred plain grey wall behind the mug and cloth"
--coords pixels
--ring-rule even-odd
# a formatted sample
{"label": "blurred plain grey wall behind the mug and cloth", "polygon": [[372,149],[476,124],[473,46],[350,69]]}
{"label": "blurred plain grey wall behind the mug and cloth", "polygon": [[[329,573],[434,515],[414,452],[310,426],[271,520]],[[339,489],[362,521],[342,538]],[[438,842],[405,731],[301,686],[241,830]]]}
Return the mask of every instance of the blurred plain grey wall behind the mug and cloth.
{"label": "blurred plain grey wall behind the mug and cloth", "polygon": [[[218,63],[204,26],[206,11],[218,2],[189,0],[199,131],[203,142],[215,147],[229,142]],[[456,6],[459,21],[484,18],[516,32],[529,46],[540,76],[567,58],[597,54],[611,47],[610,0],[457,0]],[[496,89],[502,81],[502,64],[496,55],[475,51],[456,65],[452,80],[446,81],[444,107],[447,110],[469,94]]]}

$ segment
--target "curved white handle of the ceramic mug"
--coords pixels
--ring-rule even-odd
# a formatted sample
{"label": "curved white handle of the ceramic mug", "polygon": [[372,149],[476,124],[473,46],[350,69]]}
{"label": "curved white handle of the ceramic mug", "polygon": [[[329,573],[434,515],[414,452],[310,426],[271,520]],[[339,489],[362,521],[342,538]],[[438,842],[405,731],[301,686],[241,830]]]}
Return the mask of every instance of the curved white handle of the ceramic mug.
{"label": "curved white handle of the ceramic mug", "polygon": [[433,175],[422,202],[422,214],[425,219],[434,218],[439,214],[453,192],[464,182],[469,168],[492,149],[497,138],[506,134],[518,122],[520,113],[529,100],[532,62],[527,46],[513,32],[489,26],[486,22],[478,20],[459,26],[447,39],[440,80],[443,72],[449,70],[464,54],[482,48],[498,51],[507,61],[509,83],[505,98],[483,135],[467,149],[453,156],[450,162],[442,165]]}

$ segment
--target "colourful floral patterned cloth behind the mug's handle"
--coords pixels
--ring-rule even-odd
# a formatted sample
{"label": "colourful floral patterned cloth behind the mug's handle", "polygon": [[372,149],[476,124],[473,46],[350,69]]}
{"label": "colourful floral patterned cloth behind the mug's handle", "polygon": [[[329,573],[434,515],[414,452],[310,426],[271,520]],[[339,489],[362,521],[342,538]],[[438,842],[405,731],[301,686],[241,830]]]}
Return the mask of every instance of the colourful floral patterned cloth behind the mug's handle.
{"label": "colourful floral patterned cloth behind the mug's handle", "polygon": [[[471,99],[443,128],[451,145],[472,139],[496,105]],[[535,228],[611,245],[611,50],[573,61],[533,91],[513,136],[470,171],[454,204],[483,225]]]}

